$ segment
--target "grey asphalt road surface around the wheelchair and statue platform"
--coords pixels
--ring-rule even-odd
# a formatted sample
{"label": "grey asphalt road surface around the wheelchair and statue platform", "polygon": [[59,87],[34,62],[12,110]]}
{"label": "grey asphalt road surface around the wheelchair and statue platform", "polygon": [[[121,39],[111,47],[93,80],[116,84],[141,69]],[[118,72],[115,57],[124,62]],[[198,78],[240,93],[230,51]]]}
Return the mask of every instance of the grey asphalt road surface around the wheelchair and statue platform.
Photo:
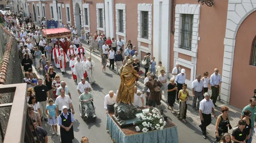
{"label": "grey asphalt road surface around the wheelchair and statue platform", "polygon": [[[89,57],[89,54],[86,54],[86,57]],[[60,78],[64,80],[71,91],[72,103],[75,109],[74,114],[74,143],[79,143],[81,137],[86,136],[89,138],[90,142],[94,143],[113,143],[110,135],[106,130],[106,121],[107,116],[104,109],[104,97],[110,90],[113,90],[115,93],[120,84],[120,76],[115,73],[115,71],[110,71],[108,68],[106,69],[106,74],[102,72],[102,66],[100,64],[100,60],[98,57],[92,57],[92,60],[95,61],[96,67],[94,77],[96,83],[92,85],[93,91],[91,92],[94,96],[94,105],[96,107],[96,119],[95,120],[87,120],[83,121],[79,115],[79,101],[78,101],[78,93],[77,93],[77,82],[73,81],[72,72],[70,68],[66,68],[66,73],[61,74],[60,70],[56,69],[57,74],[60,75]],[[54,65],[54,63],[52,62]],[[68,64],[67,64],[68,66]],[[40,73],[40,72],[39,72]],[[42,74],[41,74],[42,75]],[[42,77],[42,76],[41,76]],[[80,81],[79,81],[80,82]],[[137,86],[139,90],[142,89],[143,84],[138,82]],[[144,101],[145,100],[145,96]],[[140,106],[142,103],[140,101]],[[164,107],[165,109],[165,107]],[[210,139],[203,139],[202,133],[200,130],[196,129],[189,123],[184,123],[183,121],[177,119],[176,114],[172,114],[170,110],[164,111],[166,116],[174,122],[178,126],[178,138],[180,143],[186,142],[212,142]],[[43,121],[44,124],[44,121]],[[46,123],[47,124],[47,123]],[[47,125],[46,125],[47,126]]]}

